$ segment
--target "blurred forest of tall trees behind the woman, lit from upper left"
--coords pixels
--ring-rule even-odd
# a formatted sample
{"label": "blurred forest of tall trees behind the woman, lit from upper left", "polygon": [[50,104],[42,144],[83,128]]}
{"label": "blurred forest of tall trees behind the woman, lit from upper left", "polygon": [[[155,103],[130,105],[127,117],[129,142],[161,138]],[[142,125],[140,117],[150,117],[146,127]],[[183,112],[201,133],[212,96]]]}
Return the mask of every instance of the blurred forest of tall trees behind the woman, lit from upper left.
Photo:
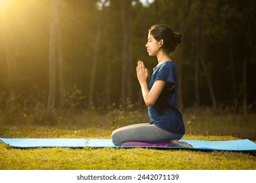
{"label": "blurred forest of tall trees behind the woman, lit from upper left", "polygon": [[255,7],[253,0],[2,0],[0,124],[146,119],[135,68],[140,59],[152,73],[148,29],[167,24],[183,35],[172,58],[187,125],[226,115],[254,131]]}

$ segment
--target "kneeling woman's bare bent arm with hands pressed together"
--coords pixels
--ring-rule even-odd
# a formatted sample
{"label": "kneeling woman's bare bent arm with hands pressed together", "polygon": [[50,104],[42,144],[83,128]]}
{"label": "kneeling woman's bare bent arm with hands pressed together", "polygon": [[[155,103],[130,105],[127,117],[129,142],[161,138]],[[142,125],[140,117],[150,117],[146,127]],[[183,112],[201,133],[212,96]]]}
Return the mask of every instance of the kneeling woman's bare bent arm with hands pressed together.
{"label": "kneeling woman's bare bent arm with hands pressed together", "polygon": [[148,69],[145,69],[144,63],[142,61],[138,61],[137,78],[140,82],[142,96],[146,106],[154,105],[166,82],[164,80],[156,80],[151,90],[149,90],[148,83],[146,82],[146,79],[148,78]]}

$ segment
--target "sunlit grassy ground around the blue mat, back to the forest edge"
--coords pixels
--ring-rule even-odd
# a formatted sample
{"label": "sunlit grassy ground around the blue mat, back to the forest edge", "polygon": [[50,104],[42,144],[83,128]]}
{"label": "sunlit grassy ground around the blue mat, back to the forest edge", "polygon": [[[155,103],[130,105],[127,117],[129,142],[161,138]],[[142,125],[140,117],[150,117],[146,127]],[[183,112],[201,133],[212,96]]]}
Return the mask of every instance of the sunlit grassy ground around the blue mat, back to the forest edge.
{"label": "sunlit grassy ground around the blue mat, back to the forest edge", "polygon": [[[15,116],[11,116],[15,117]],[[99,138],[110,139],[117,127],[147,122],[137,110],[121,108],[105,114],[98,110],[56,112],[51,123],[41,115],[24,115],[7,122],[0,117],[2,138]],[[256,141],[255,114],[247,120],[212,110],[184,112],[186,135],[183,139]],[[12,122],[12,123],[10,123]],[[255,170],[255,153],[156,150],[145,148],[11,148],[0,142],[1,170]]]}

